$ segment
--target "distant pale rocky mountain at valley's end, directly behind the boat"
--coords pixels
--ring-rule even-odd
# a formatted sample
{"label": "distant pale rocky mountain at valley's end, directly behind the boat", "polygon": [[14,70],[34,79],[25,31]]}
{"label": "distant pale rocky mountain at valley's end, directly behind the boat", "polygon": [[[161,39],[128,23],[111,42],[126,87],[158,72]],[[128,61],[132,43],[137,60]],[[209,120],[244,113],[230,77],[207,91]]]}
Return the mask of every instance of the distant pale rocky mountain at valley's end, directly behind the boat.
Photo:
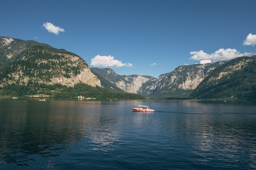
{"label": "distant pale rocky mountain at valley's end, directly behind the boat", "polygon": [[118,75],[110,68],[91,68],[93,72],[106,78],[110,83],[115,84],[120,89],[128,93],[141,94],[148,96],[153,92],[156,78],[152,76],[139,76],[139,75]]}

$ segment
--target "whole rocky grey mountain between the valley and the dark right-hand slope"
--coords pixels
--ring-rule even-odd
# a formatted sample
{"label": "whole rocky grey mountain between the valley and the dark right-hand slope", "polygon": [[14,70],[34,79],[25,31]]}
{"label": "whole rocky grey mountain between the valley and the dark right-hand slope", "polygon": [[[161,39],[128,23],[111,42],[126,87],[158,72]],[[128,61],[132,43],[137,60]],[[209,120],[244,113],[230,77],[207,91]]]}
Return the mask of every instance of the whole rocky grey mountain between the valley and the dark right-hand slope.
{"label": "whole rocky grey mountain between the valley and the dark right-hand slope", "polygon": [[207,64],[180,65],[174,71],[161,74],[150,97],[186,98],[214,69],[227,61]]}

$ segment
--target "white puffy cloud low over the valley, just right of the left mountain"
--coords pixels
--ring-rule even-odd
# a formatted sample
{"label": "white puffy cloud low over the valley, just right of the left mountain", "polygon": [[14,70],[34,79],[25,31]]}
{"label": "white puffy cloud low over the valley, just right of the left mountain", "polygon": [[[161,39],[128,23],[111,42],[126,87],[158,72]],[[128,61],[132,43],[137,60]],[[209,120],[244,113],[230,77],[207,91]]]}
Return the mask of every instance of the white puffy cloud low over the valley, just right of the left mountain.
{"label": "white puffy cloud low over the valley, just right of the left mountain", "polygon": [[91,65],[96,67],[132,67],[131,63],[122,63],[119,60],[114,60],[113,56],[97,55],[91,61]]}

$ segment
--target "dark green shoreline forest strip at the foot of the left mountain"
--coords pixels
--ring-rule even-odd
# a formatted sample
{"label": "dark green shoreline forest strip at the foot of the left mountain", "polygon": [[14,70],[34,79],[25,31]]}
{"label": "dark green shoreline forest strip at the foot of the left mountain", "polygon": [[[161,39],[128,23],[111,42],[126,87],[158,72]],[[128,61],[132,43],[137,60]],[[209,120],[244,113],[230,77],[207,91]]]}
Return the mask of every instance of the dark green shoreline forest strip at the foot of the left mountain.
{"label": "dark green shoreline forest strip at the foot of the left mountain", "polygon": [[49,96],[49,98],[56,99],[77,99],[78,96],[85,98],[103,99],[145,99],[139,94],[109,92],[102,87],[92,87],[84,83],[78,83],[74,87],[67,87],[66,85],[54,84],[47,85],[45,83],[28,82],[27,85],[9,84],[0,89],[1,97],[19,97],[29,98],[32,96]]}

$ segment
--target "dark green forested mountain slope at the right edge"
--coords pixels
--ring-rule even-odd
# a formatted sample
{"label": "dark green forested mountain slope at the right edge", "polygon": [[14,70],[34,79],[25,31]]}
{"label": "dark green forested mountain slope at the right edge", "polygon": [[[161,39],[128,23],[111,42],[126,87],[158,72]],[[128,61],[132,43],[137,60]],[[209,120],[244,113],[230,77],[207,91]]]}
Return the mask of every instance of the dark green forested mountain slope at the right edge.
{"label": "dark green forested mountain slope at the right edge", "polygon": [[190,97],[256,100],[256,56],[235,58],[217,67]]}

